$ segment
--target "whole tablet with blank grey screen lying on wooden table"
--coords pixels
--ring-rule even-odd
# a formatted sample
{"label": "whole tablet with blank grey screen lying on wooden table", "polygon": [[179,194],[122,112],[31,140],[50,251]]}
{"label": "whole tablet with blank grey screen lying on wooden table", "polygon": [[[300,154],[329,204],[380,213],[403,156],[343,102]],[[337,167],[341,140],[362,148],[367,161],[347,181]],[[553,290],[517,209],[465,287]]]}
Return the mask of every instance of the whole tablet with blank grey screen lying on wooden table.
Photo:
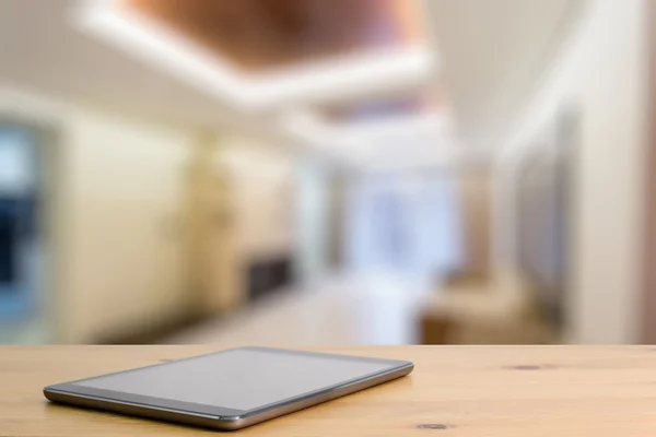
{"label": "whole tablet with blank grey screen lying on wooden table", "polygon": [[405,361],[238,347],[48,386],[75,406],[238,429],[408,375]]}

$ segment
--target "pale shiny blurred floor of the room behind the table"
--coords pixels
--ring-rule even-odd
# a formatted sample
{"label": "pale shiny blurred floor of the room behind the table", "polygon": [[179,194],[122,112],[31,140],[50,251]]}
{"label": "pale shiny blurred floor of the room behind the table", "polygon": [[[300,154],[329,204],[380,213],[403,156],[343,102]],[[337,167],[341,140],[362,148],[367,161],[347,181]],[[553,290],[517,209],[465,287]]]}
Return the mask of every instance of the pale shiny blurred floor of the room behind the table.
{"label": "pale shiny blurred floor of the room behind the table", "polygon": [[336,276],[280,292],[163,343],[417,343],[417,314],[429,295],[425,286],[400,276]]}

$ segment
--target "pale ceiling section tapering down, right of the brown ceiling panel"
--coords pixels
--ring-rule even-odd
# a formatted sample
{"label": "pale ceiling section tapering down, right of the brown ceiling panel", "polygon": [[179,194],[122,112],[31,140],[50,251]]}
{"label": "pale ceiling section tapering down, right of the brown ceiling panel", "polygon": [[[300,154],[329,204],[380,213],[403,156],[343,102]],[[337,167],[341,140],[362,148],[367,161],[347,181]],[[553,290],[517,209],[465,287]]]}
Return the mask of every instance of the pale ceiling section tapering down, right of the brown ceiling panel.
{"label": "pale ceiling section tapering down, right of the brown ceiling panel", "polygon": [[424,0],[464,145],[489,149],[549,71],[583,0]]}

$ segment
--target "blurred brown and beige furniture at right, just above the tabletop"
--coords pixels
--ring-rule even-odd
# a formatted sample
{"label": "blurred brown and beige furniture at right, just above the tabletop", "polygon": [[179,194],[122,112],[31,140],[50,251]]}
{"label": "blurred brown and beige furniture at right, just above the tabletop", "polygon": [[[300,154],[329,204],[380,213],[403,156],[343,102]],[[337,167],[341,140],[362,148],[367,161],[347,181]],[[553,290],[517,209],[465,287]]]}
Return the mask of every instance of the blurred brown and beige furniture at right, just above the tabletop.
{"label": "blurred brown and beige furniture at right, just above the tabletop", "polygon": [[420,317],[423,344],[559,343],[535,290],[518,275],[450,276]]}

